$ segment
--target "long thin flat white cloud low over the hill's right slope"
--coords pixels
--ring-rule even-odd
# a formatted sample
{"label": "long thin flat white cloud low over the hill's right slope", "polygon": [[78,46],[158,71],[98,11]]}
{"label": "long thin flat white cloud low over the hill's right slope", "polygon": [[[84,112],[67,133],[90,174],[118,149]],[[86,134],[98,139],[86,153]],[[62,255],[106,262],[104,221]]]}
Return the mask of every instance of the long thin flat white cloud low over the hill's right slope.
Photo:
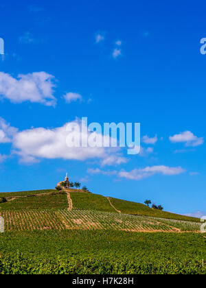
{"label": "long thin flat white cloud low over the hill's right slope", "polygon": [[134,169],[129,172],[120,171],[118,175],[121,178],[126,178],[130,180],[141,180],[153,176],[155,174],[174,176],[184,172],[185,170],[182,167],[167,167],[161,165],[161,166],[146,167],[144,169]]}

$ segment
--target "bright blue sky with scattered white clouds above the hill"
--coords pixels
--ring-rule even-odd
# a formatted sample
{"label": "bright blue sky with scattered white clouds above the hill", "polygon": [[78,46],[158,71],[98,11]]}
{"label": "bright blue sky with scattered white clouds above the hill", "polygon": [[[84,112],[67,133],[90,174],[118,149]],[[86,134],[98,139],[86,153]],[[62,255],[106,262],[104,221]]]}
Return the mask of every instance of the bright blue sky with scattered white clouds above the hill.
{"label": "bright blue sky with scattered white clouds above the hill", "polygon": [[[0,1],[0,191],[68,171],[93,193],[205,214],[204,1],[50,2]],[[141,154],[64,154],[60,128],[82,117],[141,123]]]}

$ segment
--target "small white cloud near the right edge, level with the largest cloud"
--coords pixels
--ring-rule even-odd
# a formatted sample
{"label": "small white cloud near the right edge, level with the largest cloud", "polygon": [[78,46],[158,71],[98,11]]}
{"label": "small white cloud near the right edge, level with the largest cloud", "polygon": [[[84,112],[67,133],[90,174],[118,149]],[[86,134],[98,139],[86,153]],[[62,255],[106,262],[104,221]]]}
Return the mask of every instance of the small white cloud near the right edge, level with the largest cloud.
{"label": "small white cloud near the right edge, level with the largest cloud", "polygon": [[185,146],[196,147],[204,143],[203,137],[197,137],[190,131],[181,132],[180,134],[175,134],[170,136],[170,141],[172,143],[185,143]]}

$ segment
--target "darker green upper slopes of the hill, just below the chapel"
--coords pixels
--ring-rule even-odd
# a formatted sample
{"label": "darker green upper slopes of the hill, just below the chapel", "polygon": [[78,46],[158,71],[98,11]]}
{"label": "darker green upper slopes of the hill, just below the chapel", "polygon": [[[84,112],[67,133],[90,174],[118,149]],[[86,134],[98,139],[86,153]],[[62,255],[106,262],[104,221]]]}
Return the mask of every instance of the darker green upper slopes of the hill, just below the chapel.
{"label": "darker green upper slopes of the hill, just below the chapel", "polygon": [[[122,213],[130,215],[144,215],[176,219],[181,221],[199,221],[194,217],[187,217],[158,209],[149,208],[144,204],[119,200],[113,197],[104,197],[93,193],[85,193],[78,189],[71,189],[67,192],[71,195],[73,208],[87,211],[104,211],[108,213]],[[38,190],[21,191],[13,193],[0,193],[7,202],[0,204],[0,211],[9,210],[58,210],[68,207],[66,191]]]}

